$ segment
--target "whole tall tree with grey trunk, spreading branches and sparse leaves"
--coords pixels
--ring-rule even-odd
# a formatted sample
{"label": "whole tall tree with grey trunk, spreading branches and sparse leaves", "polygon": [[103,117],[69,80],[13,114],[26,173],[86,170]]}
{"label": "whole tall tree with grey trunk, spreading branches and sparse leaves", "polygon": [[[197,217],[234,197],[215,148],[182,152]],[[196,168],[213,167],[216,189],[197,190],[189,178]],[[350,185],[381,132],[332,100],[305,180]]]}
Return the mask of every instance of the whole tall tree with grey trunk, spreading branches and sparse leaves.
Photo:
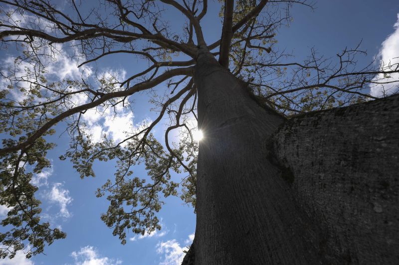
{"label": "whole tall tree with grey trunk, spreading branches and sparse leaves", "polygon": [[[110,206],[101,218],[122,244],[127,229],[160,229],[160,195],[177,195],[182,187],[182,199],[197,212],[195,242],[184,263],[398,262],[398,96],[378,99],[368,91],[378,86],[384,95],[397,92],[399,80],[391,75],[399,65],[358,69],[359,46],[337,54],[336,63],[315,51],[303,63],[287,61],[274,49],[276,30],[289,23],[292,4],[311,4],[222,1],[220,40],[206,43],[200,25],[206,0],[106,0],[94,8],[71,0],[66,11],[44,0],[0,2],[6,10],[2,45],[22,49],[15,67],[2,72],[8,86],[1,90],[1,133],[9,136],[0,149],[0,204],[12,207],[1,223],[11,227],[0,236],[2,257],[26,244],[31,257],[66,236],[40,222],[31,183],[32,173],[49,166],[46,152],[54,144],[45,136],[63,121],[71,143],[60,159],[69,158],[82,178],[94,176],[95,160],[118,162],[115,180],[97,195],[108,194]],[[181,12],[183,31],[175,33],[163,21],[166,7]],[[143,58],[149,67],[126,80],[85,74],[51,80],[46,65],[65,43],[83,59],[81,67],[116,53]],[[162,84],[165,94],[152,99],[156,120],[119,142],[106,135],[93,139],[87,111],[123,111],[130,96],[155,94],[152,89]],[[165,114],[171,122],[166,150],[151,133]],[[200,145],[193,140],[193,120],[204,135]],[[175,129],[179,145],[169,141]],[[382,152],[384,169],[370,166],[373,152]],[[138,163],[146,165],[151,182],[132,177]],[[343,166],[352,174],[348,180]],[[182,170],[188,176],[181,183],[170,180],[170,171]]]}

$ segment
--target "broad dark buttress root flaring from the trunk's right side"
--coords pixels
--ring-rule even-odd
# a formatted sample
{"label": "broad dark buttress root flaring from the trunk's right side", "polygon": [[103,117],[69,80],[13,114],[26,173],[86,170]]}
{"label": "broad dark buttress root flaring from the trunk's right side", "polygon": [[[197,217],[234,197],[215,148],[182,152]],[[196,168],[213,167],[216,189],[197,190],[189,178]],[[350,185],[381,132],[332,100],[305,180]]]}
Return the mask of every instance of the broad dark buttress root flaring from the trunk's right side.
{"label": "broad dark buttress root flaring from the trunk's right side", "polygon": [[399,264],[399,96],[292,118],[274,157],[325,245],[351,264]]}

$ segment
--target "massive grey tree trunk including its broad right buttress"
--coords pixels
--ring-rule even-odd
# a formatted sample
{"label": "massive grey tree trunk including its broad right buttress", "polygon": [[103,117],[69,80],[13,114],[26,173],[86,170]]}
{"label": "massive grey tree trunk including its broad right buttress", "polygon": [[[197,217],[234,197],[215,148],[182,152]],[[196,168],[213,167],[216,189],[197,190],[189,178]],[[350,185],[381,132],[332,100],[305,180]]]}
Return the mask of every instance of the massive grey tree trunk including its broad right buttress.
{"label": "massive grey tree trunk including its broad right buttress", "polygon": [[[394,264],[395,257],[391,251],[398,249],[398,212],[396,210],[390,215],[388,209],[398,202],[397,177],[396,180],[395,177],[388,177],[387,182],[381,184],[396,185],[392,186],[393,192],[389,194],[390,204],[374,201],[374,197],[368,201],[375,202],[373,207],[370,208],[368,202],[363,203],[361,196],[377,194],[362,193],[362,189],[367,189],[365,185],[358,191],[352,191],[351,194],[355,194],[352,197],[345,197],[344,193],[352,189],[352,182],[347,179],[340,186],[341,179],[334,180],[337,167],[330,160],[343,153],[330,154],[329,146],[323,146],[323,143],[331,144],[323,135],[328,129],[315,133],[313,120],[311,125],[309,121],[306,125],[298,122],[292,125],[299,118],[286,122],[277,113],[261,107],[244,84],[206,51],[200,53],[197,59],[195,82],[199,93],[199,127],[204,138],[198,158],[195,243],[184,264]],[[328,123],[320,126],[328,128]],[[279,127],[281,129],[277,132]],[[303,134],[296,137],[296,130],[303,130]],[[284,137],[291,138],[288,141]],[[309,149],[315,139],[319,143],[314,148],[325,150],[322,153],[324,159],[318,157],[319,151]],[[337,142],[335,146],[341,148],[342,144]],[[319,164],[312,168],[308,165],[311,160],[313,163],[324,163],[324,175],[317,175],[320,173],[317,170],[322,167]],[[360,160],[351,163],[356,164]],[[347,167],[345,160],[341,161],[339,167]],[[330,182],[316,181],[329,172]],[[344,174],[345,170],[342,172]],[[359,178],[362,173],[356,176]],[[378,182],[378,179],[375,177],[373,181]],[[326,188],[331,183],[335,186]],[[356,181],[353,184],[356,185]],[[374,182],[370,185],[372,189],[380,187]],[[382,190],[380,188],[380,192],[384,193]],[[357,200],[353,207],[348,206],[352,198]],[[366,204],[370,209],[365,208]],[[371,215],[363,214],[363,210]],[[358,219],[346,221],[355,211],[359,214]],[[372,214],[385,211],[385,219],[381,218],[382,215],[376,215],[373,220],[367,219]],[[330,219],[326,221],[326,218]],[[388,223],[381,227],[381,220]],[[365,224],[356,227],[357,222],[362,221]],[[388,226],[396,232],[395,235],[387,235]],[[352,230],[345,230],[348,227]],[[368,227],[374,231],[368,232]],[[384,235],[371,236],[374,233]],[[376,243],[362,242],[363,235],[368,236],[364,240],[378,239],[378,243],[383,242],[384,246],[379,249],[388,246],[386,251],[378,252],[385,258],[375,257],[376,251],[369,255],[365,253],[371,251]],[[352,241],[354,237],[357,241]],[[363,245],[351,246],[358,243]],[[364,245],[368,247],[364,248]],[[357,254],[365,255],[365,258],[359,258]]]}

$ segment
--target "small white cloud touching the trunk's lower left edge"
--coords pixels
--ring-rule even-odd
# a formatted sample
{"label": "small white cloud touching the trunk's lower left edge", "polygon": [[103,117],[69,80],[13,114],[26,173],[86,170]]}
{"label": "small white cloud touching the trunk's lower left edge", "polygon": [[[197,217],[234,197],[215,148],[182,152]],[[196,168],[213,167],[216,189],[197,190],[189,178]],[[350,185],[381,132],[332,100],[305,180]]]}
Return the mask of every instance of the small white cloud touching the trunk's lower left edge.
{"label": "small white cloud touching the trunk's lower left edge", "polygon": [[[185,244],[191,245],[194,240],[194,234],[189,235],[189,240]],[[188,250],[186,247],[181,247],[176,239],[168,240],[166,242],[159,242],[157,244],[157,253],[163,254],[163,261],[159,265],[181,265]]]}

